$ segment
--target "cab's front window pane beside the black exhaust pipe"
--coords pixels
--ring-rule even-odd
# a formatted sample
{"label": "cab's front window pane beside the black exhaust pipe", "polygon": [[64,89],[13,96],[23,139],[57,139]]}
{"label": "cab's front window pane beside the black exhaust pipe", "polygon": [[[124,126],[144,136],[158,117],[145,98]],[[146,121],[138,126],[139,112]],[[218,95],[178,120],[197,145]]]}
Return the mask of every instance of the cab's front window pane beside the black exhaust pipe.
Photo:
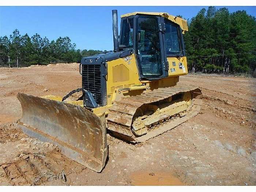
{"label": "cab's front window pane beside the black exhaust pipe", "polygon": [[[128,22],[127,22],[128,20]],[[130,31],[131,28],[131,31]],[[127,48],[133,47],[133,18],[123,20],[122,32],[121,32],[121,45],[125,45]]]}

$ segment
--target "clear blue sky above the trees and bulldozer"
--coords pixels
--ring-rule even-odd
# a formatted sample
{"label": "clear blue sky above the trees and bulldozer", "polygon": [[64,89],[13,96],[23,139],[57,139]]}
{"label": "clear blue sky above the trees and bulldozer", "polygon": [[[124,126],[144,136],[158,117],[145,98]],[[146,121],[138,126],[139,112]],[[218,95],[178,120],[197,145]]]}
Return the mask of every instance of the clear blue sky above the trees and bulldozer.
{"label": "clear blue sky above the trees and bulldozer", "polygon": [[[112,50],[112,9],[120,15],[135,12],[168,12],[192,18],[200,7],[0,7],[0,36],[10,35],[14,29],[20,34],[35,33],[49,40],[68,36],[78,49]],[[221,7],[217,7],[221,8]],[[256,7],[227,7],[229,12],[245,10],[256,17]]]}

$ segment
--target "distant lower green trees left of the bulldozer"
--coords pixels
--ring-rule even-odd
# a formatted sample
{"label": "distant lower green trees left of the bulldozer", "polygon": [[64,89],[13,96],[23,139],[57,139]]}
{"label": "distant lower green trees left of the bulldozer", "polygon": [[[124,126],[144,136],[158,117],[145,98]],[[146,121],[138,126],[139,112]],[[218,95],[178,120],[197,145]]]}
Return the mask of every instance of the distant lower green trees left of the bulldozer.
{"label": "distant lower green trees left of the bulldozer", "polygon": [[[105,50],[106,51],[106,50]],[[20,35],[17,29],[10,37],[0,37],[0,67],[27,67],[30,65],[47,65],[49,63],[80,62],[82,57],[101,53],[101,50],[76,49],[69,37],[59,37],[49,41],[39,34],[29,37]],[[10,63],[8,62],[10,56]]]}

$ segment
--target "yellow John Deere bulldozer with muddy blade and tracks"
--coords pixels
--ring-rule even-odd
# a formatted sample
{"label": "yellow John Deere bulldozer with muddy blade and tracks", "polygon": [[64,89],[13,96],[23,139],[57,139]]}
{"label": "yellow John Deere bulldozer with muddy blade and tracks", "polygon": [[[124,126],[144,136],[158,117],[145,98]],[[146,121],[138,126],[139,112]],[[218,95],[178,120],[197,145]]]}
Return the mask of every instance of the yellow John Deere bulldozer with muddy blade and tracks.
{"label": "yellow John Deere bulldozer with muddy blade and tracks", "polygon": [[200,89],[181,86],[188,74],[183,34],[187,21],[163,12],[121,15],[112,10],[114,50],[82,58],[82,88],[65,97],[18,94],[23,132],[101,172],[106,133],[144,142],[196,116]]}

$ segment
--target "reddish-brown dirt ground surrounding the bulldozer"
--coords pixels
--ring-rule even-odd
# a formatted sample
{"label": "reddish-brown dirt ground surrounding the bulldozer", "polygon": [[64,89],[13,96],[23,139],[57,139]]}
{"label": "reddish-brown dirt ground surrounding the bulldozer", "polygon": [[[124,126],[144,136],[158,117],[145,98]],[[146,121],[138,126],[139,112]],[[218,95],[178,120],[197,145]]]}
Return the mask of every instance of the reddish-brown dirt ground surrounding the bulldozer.
{"label": "reddish-brown dirt ground surrounding the bulldozer", "polygon": [[64,96],[81,87],[78,64],[0,68],[1,185],[256,185],[256,79],[186,75],[203,106],[193,119],[142,144],[108,135],[96,173],[57,146],[22,133],[19,92]]}

